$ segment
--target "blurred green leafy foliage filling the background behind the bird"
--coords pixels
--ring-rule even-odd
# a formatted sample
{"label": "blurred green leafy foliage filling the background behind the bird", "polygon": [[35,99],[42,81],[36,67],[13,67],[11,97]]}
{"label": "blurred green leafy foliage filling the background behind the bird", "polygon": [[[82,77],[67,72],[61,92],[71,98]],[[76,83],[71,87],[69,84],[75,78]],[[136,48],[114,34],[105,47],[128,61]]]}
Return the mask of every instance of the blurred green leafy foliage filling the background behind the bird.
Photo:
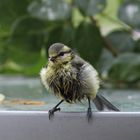
{"label": "blurred green leafy foliage filling the background behind the bird", "polygon": [[140,0],[1,0],[0,74],[39,76],[48,47],[72,47],[113,86],[140,88]]}

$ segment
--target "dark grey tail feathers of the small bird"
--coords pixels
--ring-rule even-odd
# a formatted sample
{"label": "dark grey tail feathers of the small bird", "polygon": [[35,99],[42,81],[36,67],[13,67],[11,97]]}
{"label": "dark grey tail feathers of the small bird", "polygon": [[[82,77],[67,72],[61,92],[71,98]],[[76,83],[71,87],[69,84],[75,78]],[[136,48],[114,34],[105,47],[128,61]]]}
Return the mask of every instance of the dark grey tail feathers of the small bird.
{"label": "dark grey tail feathers of the small bird", "polygon": [[93,102],[94,102],[96,108],[100,111],[104,110],[105,107],[109,110],[120,111],[117,107],[115,107],[113,104],[111,104],[102,95],[96,95],[96,98],[93,100]]}

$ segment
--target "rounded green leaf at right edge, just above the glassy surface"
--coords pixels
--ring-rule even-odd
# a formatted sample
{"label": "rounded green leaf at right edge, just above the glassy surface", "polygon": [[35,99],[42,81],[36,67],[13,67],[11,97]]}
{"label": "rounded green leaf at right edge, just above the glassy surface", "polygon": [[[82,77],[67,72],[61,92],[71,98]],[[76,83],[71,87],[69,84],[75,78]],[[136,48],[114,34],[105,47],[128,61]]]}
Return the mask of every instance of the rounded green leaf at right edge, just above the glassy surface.
{"label": "rounded green leaf at right edge, just above the glassy surface", "polygon": [[112,81],[137,82],[140,80],[140,55],[124,53],[115,59],[109,77]]}

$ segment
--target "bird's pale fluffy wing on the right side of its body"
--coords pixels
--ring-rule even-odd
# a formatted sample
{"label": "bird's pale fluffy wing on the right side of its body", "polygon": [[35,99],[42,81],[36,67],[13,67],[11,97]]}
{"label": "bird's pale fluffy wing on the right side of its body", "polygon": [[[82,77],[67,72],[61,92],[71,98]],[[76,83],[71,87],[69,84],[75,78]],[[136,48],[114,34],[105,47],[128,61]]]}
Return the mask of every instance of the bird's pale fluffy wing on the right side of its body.
{"label": "bird's pale fluffy wing on the right side of its body", "polygon": [[79,56],[76,56],[74,58],[73,64],[73,67],[78,70],[78,76],[81,80],[81,83],[84,83],[83,92],[87,94],[87,96],[90,96],[92,99],[94,99],[99,89],[100,83],[98,72],[91,64],[89,64]]}

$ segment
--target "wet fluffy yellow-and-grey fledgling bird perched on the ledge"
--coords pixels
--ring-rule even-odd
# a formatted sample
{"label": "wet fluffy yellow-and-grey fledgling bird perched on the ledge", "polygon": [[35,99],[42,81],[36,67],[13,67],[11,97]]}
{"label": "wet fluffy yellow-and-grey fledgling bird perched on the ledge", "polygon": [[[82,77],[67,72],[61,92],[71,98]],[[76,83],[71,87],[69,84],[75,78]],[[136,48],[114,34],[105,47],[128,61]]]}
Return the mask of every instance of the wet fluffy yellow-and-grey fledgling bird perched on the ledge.
{"label": "wet fluffy yellow-and-grey fledgling bird perched on the ledge", "polygon": [[98,110],[104,107],[119,111],[102,95],[97,94],[99,77],[94,67],[78,56],[71,48],[54,43],[48,50],[48,64],[41,69],[40,77],[43,85],[50,92],[61,98],[61,101],[49,111],[49,118],[63,101],[75,103],[83,99],[88,100],[87,118],[92,118],[91,101]]}

